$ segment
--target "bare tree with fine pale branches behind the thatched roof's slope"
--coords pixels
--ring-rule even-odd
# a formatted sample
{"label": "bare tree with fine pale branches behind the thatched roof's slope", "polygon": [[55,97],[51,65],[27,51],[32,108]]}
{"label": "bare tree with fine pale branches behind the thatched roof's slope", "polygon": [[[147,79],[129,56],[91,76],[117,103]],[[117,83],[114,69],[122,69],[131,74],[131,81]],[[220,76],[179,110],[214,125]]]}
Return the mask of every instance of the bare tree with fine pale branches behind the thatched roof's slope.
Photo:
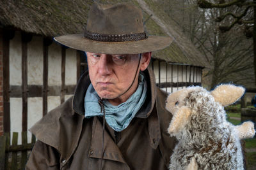
{"label": "bare tree with fine pale branches behind the thatched roof's slope", "polygon": [[[254,84],[252,40],[246,39],[244,30],[237,25],[232,30],[223,32],[219,29],[220,22],[215,22],[215,16],[227,13],[228,10],[239,10],[198,8],[197,2],[198,0],[170,0],[168,3],[165,1],[163,6],[171,9],[164,11],[170,13],[184,34],[211,64],[211,69],[206,73],[206,76],[211,77],[209,87],[230,81],[243,85]],[[225,24],[231,23],[232,20],[225,20]]]}

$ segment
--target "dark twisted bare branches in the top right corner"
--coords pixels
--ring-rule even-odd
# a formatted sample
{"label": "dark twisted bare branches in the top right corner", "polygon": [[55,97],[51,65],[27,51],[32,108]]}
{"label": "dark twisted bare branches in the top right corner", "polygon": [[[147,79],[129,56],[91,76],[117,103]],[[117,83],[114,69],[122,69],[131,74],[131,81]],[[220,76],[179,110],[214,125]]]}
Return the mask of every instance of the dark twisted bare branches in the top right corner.
{"label": "dark twisted bare branches in the top right corner", "polygon": [[[206,1],[198,0],[198,6],[204,9],[227,9],[225,13],[215,15],[220,22],[220,31],[227,32],[241,25],[246,37],[253,37],[253,67],[256,80],[256,0]],[[256,85],[256,81],[255,81]]]}

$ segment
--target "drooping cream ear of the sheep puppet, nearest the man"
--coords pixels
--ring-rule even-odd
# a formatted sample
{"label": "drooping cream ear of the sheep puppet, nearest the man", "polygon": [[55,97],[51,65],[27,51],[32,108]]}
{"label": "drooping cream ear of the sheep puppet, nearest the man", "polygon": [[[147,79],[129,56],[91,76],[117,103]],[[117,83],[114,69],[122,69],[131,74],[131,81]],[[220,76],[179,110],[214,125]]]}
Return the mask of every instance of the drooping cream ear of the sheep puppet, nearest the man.
{"label": "drooping cream ear of the sheep puppet, nearest the man", "polygon": [[175,136],[177,132],[183,129],[183,127],[189,122],[189,115],[191,115],[191,110],[182,106],[172,117],[172,121],[167,129],[171,136]]}

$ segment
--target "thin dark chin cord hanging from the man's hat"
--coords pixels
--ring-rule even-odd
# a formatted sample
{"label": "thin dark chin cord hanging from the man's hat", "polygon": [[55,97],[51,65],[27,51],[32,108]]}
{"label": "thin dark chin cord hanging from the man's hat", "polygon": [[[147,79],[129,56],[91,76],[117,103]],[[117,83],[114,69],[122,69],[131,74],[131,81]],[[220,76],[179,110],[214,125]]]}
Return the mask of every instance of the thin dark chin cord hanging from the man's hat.
{"label": "thin dark chin cord hanging from the man's hat", "polygon": [[[140,60],[141,60],[141,53],[140,53],[139,64],[138,64],[138,67],[136,69],[136,73],[135,73],[134,79],[133,79],[131,85],[129,86],[129,88],[127,90],[125,90],[125,92],[122,93],[120,96],[124,95],[126,92],[128,92],[129,89],[131,89],[131,87],[132,87],[132,85],[133,85],[133,83],[134,83],[134,81],[136,79],[136,75],[138,73],[139,67],[140,67]],[[118,97],[120,97],[120,96],[118,96]],[[116,98],[118,98],[118,97],[116,97]],[[99,101],[98,101],[98,103],[100,105],[100,112],[103,113],[102,152],[101,152],[102,155],[101,155],[101,159],[100,159],[100,170],[102,170],[102,168],[103,168],[102,167],[102,161],[103,161],[103,156],[104,156],[104,132],[105,132],[105,124],[106,124],[106,120],[105,120],[106,113],[105,113],[105,107],[104,107],[103,100],[104,99],[100,98]]]}

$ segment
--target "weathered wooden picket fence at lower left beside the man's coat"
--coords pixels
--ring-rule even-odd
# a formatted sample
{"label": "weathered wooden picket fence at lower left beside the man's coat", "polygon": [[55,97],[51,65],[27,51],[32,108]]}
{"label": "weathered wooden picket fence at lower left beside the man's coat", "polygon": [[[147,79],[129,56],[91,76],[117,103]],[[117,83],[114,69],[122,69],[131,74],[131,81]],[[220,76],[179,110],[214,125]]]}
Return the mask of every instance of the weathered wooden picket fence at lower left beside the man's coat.
{"label": "weathered wooden picket fence at lower left beside the man's coat", "polygon": [[32,136],[31,143],[28,143],[27,132],[22,132],[22,144],[18,145],[18,132],[13,132],[12,144],[10,133],[0,136],[0,170],[24,169],[36,138]]}

